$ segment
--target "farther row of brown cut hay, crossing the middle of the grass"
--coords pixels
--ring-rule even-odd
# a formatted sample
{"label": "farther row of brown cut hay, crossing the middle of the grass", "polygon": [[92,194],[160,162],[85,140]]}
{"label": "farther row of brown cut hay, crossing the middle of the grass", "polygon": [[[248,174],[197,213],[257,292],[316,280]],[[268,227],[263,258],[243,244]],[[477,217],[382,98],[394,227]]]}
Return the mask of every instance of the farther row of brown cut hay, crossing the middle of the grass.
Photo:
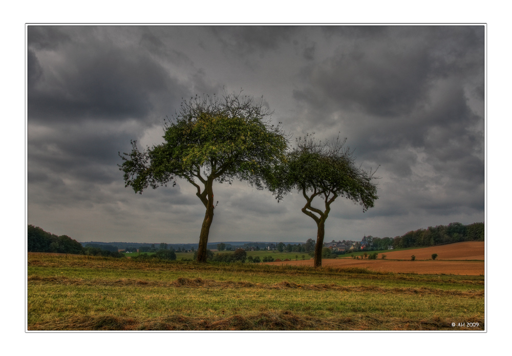
{"label": "farther row of brown cut hay, crossing the middle of the grass", "polygon": [[376,286],[340,286],[336,284],[296,284],[293,282],[282,281],[275,284],[251,283],[251,282],[232,282],[232,281],[215,281],[204,280],[201,278],[178,278],[172,282],[163,281],[146,281],[136,279],[72,279],[67,277],[39,277],[30,276],[29,283],[57,283],[65,285],[108,285],[108,286],[137,286],[137,287],[207,287],[207,288],[258,288],[258,289],[303,289],[303,290],[336,290],[342,292],[372,292],[379,294],[408,294],[408,295],[436,295],[436,296],[456,296],[456,297],[483,297],[483,290],[443,290],[436,288],[408,288],[393,287],[383,288]]}

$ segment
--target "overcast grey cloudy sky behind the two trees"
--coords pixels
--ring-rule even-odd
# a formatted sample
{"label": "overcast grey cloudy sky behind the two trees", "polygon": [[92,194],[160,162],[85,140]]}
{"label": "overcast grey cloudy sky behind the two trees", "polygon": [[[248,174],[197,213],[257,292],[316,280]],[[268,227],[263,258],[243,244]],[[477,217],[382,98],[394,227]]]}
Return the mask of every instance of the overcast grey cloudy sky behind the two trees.
{"label": "overcast grey cloudy sky behind the two trees", "polygon": [[[375,207],[338,198],[326,241],[484,221],[484,26],[28,26],[27,46],[27,219],[53,234],[198,242],[195,188],[135,194],[118,152],[161,143],[182,97],[241,89],[291,144],[340,132],[380,165]],[[214,193],[210,242],[316,237],[302,194]]]}

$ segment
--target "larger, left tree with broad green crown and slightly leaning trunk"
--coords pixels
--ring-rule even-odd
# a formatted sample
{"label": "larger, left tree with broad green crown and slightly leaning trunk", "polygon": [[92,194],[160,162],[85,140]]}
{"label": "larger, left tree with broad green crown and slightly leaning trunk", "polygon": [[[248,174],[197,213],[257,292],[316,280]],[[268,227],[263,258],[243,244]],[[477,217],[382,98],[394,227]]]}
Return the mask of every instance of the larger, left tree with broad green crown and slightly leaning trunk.
{"label": "larger, left tree with broad green crown and slightly leaning trunk", "polygon": [[214,181],[245,180],[263,189],[273,166],[285,158],[287,139],[280,125],[270,123],[263,99],[241,93],[223,97],[196,96],[183,101],[173,120],[164,126],[165,142],[132,152],[123,159],[125,186],[142,193],[148,186],[176,184],[182,178],[194,185],[206,208],[197,260],[206,261],[206,244],[214,218]]}

